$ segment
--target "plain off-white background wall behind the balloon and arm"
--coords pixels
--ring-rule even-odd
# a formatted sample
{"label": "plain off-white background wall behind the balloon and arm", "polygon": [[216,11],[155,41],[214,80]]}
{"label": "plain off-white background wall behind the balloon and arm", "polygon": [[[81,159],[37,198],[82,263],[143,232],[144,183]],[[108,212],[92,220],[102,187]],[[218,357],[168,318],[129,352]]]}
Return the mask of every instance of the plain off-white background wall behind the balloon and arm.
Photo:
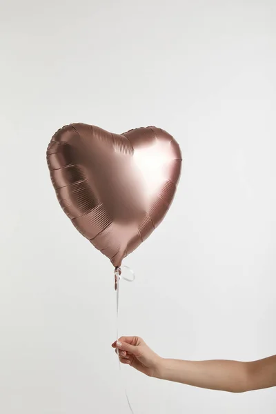
{"label": "plain off-white background wall behind the balloon and arm", "polygon": [[[121,333],[164,357],[275,354],[275,1],[1,0],[0,16],[1,413],[129,413],[112,266],[46,165],[70,122],[156,125],[184,155],[170,212],[126,259]],[[135,414],[275,412],[275,389],[123,374]]]}

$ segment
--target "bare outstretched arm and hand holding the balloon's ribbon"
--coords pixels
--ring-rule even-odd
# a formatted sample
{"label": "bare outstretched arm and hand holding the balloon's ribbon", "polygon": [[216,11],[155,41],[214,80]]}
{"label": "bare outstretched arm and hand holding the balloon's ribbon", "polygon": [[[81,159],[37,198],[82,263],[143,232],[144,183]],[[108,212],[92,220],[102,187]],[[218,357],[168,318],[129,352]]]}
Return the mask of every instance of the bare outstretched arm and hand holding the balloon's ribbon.
{"label": "bare outstretched arm and hand holding the balloon's ribbon", "polygon": [[230,393],[276,386],[276,355],[252,362],[165,359],[139,337],[121,337],[112,347],[122,364],[160,380]]}

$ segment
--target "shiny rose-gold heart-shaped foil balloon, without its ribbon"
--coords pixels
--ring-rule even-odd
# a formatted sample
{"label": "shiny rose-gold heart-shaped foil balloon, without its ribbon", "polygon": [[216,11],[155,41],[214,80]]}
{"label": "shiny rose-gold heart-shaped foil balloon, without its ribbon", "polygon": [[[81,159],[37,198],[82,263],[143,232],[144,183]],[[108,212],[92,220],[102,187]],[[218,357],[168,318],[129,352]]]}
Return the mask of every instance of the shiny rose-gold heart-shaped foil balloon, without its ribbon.
{"label": "shiny rose-gold heart-shaped foil balloon, without its ribbon", "polygon": [[159,225],[175,195],[181,150],[168,132],[58,130],[47,150],[52,184],[72,224],[114,266]]}

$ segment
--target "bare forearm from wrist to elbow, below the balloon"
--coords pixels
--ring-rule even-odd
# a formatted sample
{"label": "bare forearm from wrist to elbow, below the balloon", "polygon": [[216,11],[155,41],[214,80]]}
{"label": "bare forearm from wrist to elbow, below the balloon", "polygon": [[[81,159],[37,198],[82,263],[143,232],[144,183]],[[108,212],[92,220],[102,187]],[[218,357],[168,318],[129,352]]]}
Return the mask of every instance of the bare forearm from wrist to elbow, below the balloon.
{"label": "bare forearm from wrist to elbow, below the balloon", "polygon": [[232,393],[248,391],[248,363],[246,362],[161,359],[156,377]]}

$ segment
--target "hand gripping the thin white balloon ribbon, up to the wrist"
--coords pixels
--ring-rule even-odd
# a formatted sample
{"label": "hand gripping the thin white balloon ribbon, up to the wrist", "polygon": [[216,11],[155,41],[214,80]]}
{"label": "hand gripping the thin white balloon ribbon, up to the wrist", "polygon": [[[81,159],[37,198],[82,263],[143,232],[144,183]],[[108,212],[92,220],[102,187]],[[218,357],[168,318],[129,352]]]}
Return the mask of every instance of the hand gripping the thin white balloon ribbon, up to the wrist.
{"label": "hand gripping the thin white balloon ribbon, up to the wrist", "polygon": [[157,376],[161,357],[139,337],[120,337],[112,344],[122,364],[133,366],[148,377]]}

